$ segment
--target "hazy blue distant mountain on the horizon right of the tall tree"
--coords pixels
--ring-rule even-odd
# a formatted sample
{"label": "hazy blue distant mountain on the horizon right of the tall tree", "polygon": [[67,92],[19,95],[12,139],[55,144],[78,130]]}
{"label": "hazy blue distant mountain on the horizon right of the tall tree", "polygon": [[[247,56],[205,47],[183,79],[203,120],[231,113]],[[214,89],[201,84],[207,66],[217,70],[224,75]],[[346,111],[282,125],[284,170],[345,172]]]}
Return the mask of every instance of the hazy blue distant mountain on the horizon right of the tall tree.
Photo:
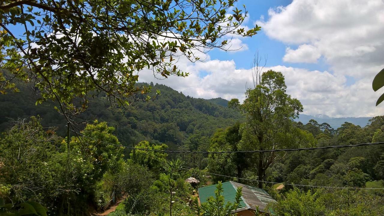
{"label": "hazy blue distant mountain on the horizon right of the tall tree", "polygon": [[344,118],[332,118],[324,114],[318,114],[318,115],[305,115],[300,114],[298,119],[295,119],[295,121],[301,121],[301,123],[306,124],[311,119],[316,120],[319,124],[321,123],[328,123],[331,125],[334,129],[339,128],[344,122],[353,123],[354,125],[360,125],[361,127],[366,126],[369,123],[369,120],[372,117],[344,117]]}

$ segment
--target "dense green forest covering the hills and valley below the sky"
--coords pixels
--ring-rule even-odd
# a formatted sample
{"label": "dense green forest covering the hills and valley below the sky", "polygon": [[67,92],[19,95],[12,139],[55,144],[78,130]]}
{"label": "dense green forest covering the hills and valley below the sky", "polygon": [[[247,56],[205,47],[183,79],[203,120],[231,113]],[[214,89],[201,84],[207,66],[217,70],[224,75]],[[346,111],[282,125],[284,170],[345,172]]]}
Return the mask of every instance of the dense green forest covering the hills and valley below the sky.
{"label": "dense green forest covering the hills and valley below the sky", "polygon": [[[281,73],[275,71],[263,74],[266,82],[281,79]],[[258,88],[248,90],[242,104],[232,100],[228,106],[221,98],[192,98],[164,85],[140,83],[161,94],[153,101],[137,101],[128,109],[111,105],[103,95],[95,96],[80,117],[88,121],[78,125],[82,126],[78,134],[71,131],[68,150],[66,122],[53,109],[54,104],[35,105],[36,91],[26,84],[18,85],[22,91],[3,95],[0,103],[4,131],[0,142],[1,194],[41,203],[50,215],[88,215],[125,196],[128,198],[111,215],[169,214],[169,188],[177,191],[174,214],[194,215],[202,208],[189,199],[194,187],[228,180],[266,189],[278,201],[270,207],[276,215],[384,212],[382,189],[358,189],[384,188],[382,145],[275,155],[135,152],[119,147],[237,151],[380,142],[384,141],[384,116],[372,118],[365,127],[346,122],[335,129],[315,120],[297,123],[291,118],[299,115],[300,102],[283,94],[283,106],[276,100],[275,106],[291,117],[273,112],[255,124],[254,115],[247,113],[270,105],[252,101],[253,94],[261,93]],[[276,88],[285,89],[285,83],[279,85]],[[265,100],[271,95],[265,93]],[[225,103],[227,106],[222,106]],[[252,128],[260,124],[272,128],[274,121],[266,122],[275,118],[280,119],[276,131],[263,134],[279,143],[265,138],[257,141],[262,128]],[[185,183],[190,176],[200,183]],[[329,199],[337,202],[329,203]]]}

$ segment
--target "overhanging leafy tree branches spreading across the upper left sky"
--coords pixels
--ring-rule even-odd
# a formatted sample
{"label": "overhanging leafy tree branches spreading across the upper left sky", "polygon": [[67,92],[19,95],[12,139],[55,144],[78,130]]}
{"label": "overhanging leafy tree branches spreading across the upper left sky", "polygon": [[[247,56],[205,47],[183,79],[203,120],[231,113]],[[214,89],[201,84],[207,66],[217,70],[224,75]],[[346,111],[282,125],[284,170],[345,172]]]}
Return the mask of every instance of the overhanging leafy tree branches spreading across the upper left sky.
{"label": "overhanging leafy tree branches spreading across the upper left sky", "polygon": [[10,75],[0,74],[0,91],[18,91],[15,79],[34,82],[36,104],[58,101],[67,118],[100,92],[120,105],[149,100],[149,87],[135,85],[138,71],[187,76],[177,56],[201,61],[202,52],[230,50],[227,35],[256,35],[260,27],[240,27],[247,11],[236,1],[2,1],[0,68]]}

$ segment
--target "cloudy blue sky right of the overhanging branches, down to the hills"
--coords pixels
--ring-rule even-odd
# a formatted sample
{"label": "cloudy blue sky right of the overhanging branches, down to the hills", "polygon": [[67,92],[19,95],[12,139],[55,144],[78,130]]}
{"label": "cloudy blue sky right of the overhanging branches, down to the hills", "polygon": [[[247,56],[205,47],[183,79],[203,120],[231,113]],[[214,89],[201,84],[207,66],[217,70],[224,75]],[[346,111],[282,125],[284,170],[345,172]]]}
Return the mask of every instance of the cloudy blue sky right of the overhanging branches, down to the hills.
{"label": "cloudy blue sky right of the overhanging branches, down to the hills", "polygon": [[179,59],[188,77],[156,80],[149,71],[139,81],[160,83],[195,98],[245,98],[255,53],[268,56],[265,70],[281,71],[287,93],[304,114],[331,117],[384,115],[375,106],[384,91],[372,80],[384,68],[384,0],[240,0],[243,26],[261,26],[252,38],[233,38],[237,51],[212,50],[204,63]]}

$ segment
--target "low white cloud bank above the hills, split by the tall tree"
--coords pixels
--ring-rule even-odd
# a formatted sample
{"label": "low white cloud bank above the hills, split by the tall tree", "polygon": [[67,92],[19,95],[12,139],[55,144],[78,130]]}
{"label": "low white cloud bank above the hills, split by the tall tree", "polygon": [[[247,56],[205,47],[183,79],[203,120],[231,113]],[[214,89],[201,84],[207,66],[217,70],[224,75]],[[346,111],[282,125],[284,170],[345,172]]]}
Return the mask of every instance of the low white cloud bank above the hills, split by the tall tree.
{"label": "low white cloud bank above the hills, split by the tall tree", "polygon": [[[156,80],[151,73],[142,71],[139,79],[161,83],[197,98],[238,98],[241,101],[245,99],[247,85],[252,83],[251,69],[237,69],[234,61],[190,63],[179,60],[179,67],[191,75]],[[369,79],[348,86],[345,76],[329,71],[310,71],[280,65],[265,68],[270,69],[283,73],[288,94],[301,101],[305,114],[322,113],[333,117],[382,115],[382,109],[375,108],[376,93],[371,90]],[[202,72],[208,74],[199,76]]]}

